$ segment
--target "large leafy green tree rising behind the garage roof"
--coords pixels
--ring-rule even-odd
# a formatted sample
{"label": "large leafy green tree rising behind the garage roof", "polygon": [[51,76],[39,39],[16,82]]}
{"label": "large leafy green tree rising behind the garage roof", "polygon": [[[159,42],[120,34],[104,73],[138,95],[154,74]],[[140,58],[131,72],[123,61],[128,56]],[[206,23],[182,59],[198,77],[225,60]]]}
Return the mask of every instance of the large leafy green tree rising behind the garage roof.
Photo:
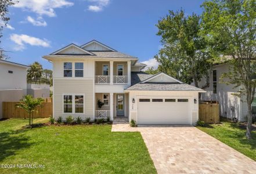
{"label": "large leafy green tree rising behind the garage roof", "polygon": [[[180,79],[192,83],[197,88],[209,86],[212,55],[207,42],[200,35],[200,16],[185,16],[183,10],[169,11],[157,24],[157,35],[161,36],[163,48],[155,56],[159,62],[158,69]],[[199,86],[201,78],[206,83]]]}

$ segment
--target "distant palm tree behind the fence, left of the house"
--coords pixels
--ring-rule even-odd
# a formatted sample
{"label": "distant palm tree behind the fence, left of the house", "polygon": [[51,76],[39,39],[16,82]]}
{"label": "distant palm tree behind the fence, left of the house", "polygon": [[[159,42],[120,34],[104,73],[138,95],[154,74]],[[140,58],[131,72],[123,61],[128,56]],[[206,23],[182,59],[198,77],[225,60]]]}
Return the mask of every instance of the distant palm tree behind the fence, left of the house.
{"label": "distant palm tree behind the fence, left of the house", "polygon": [[27,72],[27,81],[30,83],[35,82],[37,84],[38,80],[42,77],[42,65],[35,61],[31,64],[30,69]]}

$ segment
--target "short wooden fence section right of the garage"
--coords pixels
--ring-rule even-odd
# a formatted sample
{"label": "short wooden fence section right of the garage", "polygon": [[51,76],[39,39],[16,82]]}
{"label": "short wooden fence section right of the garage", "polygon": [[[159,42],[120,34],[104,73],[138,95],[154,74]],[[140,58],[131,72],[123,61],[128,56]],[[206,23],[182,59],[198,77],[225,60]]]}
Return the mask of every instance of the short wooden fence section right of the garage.
{"label": "short wooden fence section right of the garage", "polygon": [[219,104],[218,103],[203,103],[199,104],[199,120],[206,123],[219,122]]}

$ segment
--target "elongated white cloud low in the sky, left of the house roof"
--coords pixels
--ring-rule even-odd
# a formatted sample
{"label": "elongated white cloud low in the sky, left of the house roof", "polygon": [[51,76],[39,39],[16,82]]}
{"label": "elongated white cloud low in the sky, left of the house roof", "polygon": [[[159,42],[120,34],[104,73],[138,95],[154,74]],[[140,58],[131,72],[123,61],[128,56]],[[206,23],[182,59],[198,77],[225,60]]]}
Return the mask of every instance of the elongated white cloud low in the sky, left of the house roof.
{"label": "elongated white cloud low in the sky, left of the house roof", "polygon": [[42,46],[42,47],[49,47],[49,41],[46,39],[39,39],[35,37],[31,37],[26,34],[11,34],[10,39],[17,44],[15,46],[15,50],[23,50],[25,49],[25,44],[32,45],[32,46]]}

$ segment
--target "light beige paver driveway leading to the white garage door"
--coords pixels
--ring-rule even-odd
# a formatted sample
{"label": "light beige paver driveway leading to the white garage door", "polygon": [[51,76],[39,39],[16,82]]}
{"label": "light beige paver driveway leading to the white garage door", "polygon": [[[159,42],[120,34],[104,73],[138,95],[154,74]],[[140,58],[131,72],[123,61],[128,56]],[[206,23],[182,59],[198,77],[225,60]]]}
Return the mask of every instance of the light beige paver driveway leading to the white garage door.
{"label": "light beige paver driveway leading to the white garage door", "polygon": [[112,131],[139,131],[158,173],[256,173],[255,161],[193,126],[113,124]]}

